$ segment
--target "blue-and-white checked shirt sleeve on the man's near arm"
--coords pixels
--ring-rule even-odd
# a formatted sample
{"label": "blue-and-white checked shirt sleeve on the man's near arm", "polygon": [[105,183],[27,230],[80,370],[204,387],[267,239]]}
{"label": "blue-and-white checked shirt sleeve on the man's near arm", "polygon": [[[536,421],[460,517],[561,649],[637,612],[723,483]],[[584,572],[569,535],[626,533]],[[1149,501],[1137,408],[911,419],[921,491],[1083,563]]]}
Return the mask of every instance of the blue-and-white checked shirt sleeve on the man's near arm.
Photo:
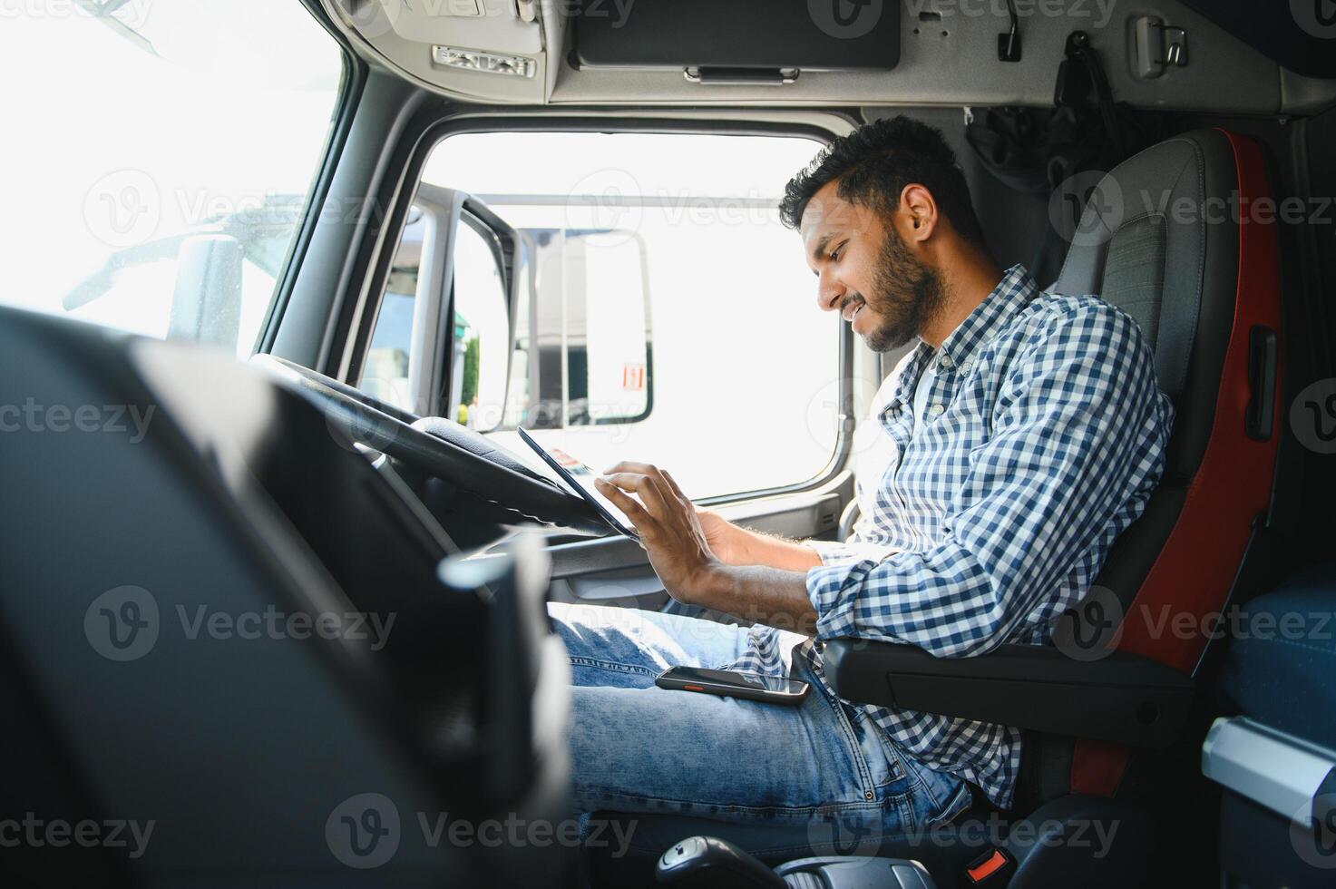
{"label": "blue-and-white checked shirt sleeve on the man's near arm", "polygon": [[938,656],[1002,644],[1144,509],[1170,418],[1134,321],[1102,305],[1059,315],[1002,382],[993,437],[970,452],[938,545],[808,571],[818,638]]}

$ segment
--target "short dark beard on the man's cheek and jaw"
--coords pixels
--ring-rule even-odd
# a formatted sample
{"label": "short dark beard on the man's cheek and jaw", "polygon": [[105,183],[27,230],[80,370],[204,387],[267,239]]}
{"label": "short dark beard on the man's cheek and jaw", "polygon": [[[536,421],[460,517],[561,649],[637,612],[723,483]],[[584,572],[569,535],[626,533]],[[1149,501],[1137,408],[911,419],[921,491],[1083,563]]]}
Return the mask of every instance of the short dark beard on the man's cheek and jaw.
{"label": "short dark beard on the man's cheek and jaw", "polygon": [[919,336],[946,302],[946,287],[937,269],[919,261],[890,226],[872,287],[874,293],[855,294],[880,322],[863,336],[872,352],[898,349]]}

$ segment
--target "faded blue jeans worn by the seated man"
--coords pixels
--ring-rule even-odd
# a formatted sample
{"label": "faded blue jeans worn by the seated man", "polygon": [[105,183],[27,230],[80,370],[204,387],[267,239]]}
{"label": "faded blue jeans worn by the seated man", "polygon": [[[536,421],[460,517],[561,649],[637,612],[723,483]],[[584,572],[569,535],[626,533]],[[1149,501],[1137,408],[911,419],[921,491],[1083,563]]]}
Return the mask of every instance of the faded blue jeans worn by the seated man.
{"label": "faded blue jeans worn by the seated man", "polygon": [[963,781],[900,753],[862,707],[814,680],[800,655],[791,675],[811,691],[798,706],[655,686],[668,667],[733,663],[745,651],[744,628],[585,604],[549,603],[548,612],[573,672],[580,811],[803,826],[811,848],[858,854],[970,805]]}

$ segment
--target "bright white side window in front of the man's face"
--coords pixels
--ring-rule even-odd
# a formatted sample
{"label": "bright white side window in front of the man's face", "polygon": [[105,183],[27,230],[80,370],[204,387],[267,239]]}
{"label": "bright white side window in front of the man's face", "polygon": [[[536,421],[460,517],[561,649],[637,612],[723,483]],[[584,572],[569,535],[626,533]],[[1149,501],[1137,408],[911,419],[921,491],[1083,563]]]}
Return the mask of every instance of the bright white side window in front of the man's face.
{"label": "bright white side window in front of the man's face", "polygon": [[486,238],[458,238],[456,418],[525,457],[517,426],[595,468],[655,463],[697,499],[819,476],[838,437],[839,325],[818,310],[778,205],[820,147],[685,132],[446,138],[424,186],[473,195],[522,243],[509,330],[494,262],[469,271]]}

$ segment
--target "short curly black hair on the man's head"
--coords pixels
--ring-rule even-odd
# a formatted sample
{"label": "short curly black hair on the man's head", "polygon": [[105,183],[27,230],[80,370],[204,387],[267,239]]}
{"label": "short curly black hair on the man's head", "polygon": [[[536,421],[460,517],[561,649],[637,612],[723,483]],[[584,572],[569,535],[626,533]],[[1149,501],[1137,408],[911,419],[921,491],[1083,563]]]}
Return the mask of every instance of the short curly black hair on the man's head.
{"label": "short curly black hair on the man's head", "polygon": [[933,193],[938,209],[962,238],[986,249],[965,172],[942,132],[926,123],[887,118],[835,139],[784,186],[780,221],[798,229],[812,195],[836,179],[835,193],[840,198],[887,217],[899,205],[904,186],[916,182]]}

